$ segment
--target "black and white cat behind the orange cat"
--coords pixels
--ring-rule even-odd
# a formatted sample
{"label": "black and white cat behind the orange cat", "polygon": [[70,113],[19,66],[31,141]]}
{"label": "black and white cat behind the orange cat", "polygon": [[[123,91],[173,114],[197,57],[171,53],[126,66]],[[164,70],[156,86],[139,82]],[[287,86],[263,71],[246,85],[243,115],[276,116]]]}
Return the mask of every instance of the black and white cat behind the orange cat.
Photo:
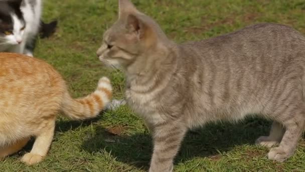
{"label": "black and white cat behind the orange cat", "polygon": [[0,52],[33,56],[39,31],[56,27],[56,23],[43,23],[41,13],[42,0],[0,0]]}

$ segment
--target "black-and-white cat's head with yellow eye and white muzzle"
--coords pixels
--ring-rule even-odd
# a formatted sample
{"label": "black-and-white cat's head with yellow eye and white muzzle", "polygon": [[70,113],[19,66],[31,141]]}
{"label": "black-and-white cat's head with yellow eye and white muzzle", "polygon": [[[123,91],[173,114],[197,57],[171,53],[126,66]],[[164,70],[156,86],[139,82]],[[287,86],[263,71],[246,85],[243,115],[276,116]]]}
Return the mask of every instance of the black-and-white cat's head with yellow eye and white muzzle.
{"label": "black-and-white cat's head with yellow eye and white muzzle", "polygon": [[0,46],[16,45],[24,41],[22,38],[26,23],[21,12],[22,1],[0,1]]}

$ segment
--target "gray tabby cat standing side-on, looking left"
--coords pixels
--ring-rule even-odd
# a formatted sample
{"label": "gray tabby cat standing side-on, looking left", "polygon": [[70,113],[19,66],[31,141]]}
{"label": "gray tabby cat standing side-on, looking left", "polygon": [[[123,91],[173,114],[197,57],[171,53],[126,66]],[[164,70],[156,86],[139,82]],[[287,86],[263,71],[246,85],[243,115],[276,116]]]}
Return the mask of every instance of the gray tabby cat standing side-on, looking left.
{"label": "gray tabby cat standing side-on, looking left", "polygon": [[188,131],[248,114],[273,120],[257,143],[282,162],[305,122],[305,38],[278,24],[257,24],[199,42],[176,44],[128,0],[97,51],[126,75],[126,101],[154,138],[149,171],[172,171]]}

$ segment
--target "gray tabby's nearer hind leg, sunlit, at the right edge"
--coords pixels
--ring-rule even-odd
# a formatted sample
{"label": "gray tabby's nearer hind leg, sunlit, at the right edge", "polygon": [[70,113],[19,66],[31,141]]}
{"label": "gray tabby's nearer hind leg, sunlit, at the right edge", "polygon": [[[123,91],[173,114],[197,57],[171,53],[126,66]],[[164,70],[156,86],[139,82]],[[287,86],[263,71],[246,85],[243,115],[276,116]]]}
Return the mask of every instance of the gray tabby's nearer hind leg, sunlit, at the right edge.
{"label": "gray tabby's nearer hind leg, sunlit, at the right edge", "polygon": [[304,130],[304,116],[305,113],[296,113],[294,118],[283,122],[286,131],[279,146],[270,149],[268,153],[269,159],[283,162],[293,154],[297,142]]}

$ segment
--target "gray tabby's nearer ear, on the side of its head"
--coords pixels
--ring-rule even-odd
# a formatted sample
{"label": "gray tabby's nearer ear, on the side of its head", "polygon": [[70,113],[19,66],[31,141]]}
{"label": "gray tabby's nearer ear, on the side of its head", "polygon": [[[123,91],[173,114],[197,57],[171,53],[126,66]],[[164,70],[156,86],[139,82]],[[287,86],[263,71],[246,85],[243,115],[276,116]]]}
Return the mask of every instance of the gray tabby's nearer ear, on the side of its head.
{"label": "gray tabby's nearer ear, on the side of its head", "polygon": [[150,46],[156,42],[156,34],[154,30],[136,15],[128,15],[126,29],[133,35],[133,39],[144,42],[146,46]]}

